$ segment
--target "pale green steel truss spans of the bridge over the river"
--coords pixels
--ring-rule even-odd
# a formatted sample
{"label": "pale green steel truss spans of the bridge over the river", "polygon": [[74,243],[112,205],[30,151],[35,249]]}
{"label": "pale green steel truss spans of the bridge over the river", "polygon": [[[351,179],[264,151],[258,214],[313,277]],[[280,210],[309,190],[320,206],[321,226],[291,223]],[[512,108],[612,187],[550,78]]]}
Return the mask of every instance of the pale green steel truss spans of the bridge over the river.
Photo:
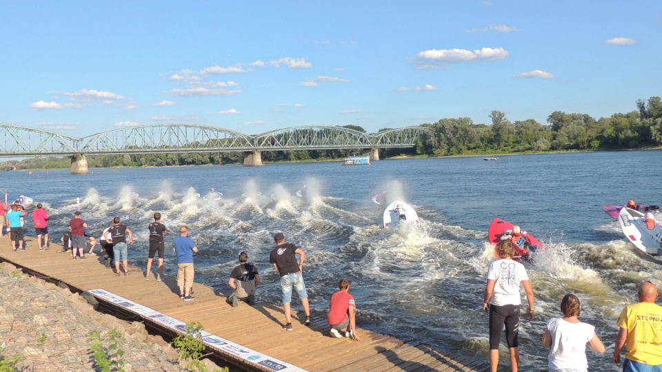
{"label": "pale green steel truss spans of the bridge over the river", "polygon": [[345,127],[303,126],[251,136],[219,127],[157,124],[75,138],[0,124],[0,157],[412,147],[426,131],[425,127],[404,127],[367,134]]}

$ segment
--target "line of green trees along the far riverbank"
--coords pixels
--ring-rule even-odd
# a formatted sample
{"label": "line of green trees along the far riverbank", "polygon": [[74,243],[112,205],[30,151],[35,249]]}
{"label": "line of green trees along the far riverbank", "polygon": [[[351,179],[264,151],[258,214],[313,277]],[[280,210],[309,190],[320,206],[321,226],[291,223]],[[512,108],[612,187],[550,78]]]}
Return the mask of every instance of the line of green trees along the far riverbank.
{"label": "line of green trees along the far riverbank", "polygon": [[[658,96],[636,101],[627,114],[592,118],[588,114],[555,111],[547,123],[534,119],[511,122],[505,113],[492,111],[491,123],[474,124],[470,118],[442,118],[425,123],[430,131],[421,134],[415,147],[380,149],[380,158],[393,156],[453,156],[509,154],[519,152],[599,151],[662,145],[662,100]],[[366,131],[358,125],[345,128]],[[379,132],[389,130],[382,128]],[[262,152],[263,162],[325,161],[358,154],[356,149],[320,149]],[[176,165],[241,164],[241,152],[194,152],[184,154],[136,154],[89,156],[90,169],[103,167],[161,167]],[[30,168],[70,167],[69,158],[41,158]]]}

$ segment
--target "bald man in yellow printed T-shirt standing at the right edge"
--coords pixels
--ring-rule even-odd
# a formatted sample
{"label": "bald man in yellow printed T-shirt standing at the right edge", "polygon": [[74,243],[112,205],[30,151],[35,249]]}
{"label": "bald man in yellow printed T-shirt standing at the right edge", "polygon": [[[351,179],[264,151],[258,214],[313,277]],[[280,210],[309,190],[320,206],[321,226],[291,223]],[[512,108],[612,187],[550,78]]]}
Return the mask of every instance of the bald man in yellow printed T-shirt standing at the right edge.
{"label": "bald man in yellow printed T-shirt standing at the right edge", "polygon": [[639,303],[625,307],[619,316],[613,360],[621,362],[621,349],[628,344],[623,372],[662,372],[662,307],[655,304],[657,296],[655,285],[642,281]]}

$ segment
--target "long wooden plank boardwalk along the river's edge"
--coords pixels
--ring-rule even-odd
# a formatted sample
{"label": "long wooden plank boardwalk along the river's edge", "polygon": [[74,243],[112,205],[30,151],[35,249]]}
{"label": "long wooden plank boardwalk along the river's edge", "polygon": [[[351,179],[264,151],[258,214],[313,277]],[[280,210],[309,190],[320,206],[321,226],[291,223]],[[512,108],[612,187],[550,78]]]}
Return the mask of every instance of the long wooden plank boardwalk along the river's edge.
{"label": "long wooden plank boardwalk along the river's edge", "polygon": [[[232,307],[225,302],[223,293],[214,293],[211,287],[199,284],[194,285],[195,300],[183,301],[179,299],[177,278],[172,276],[163,277],[163,282],[157,282],[153,275],[145,280],[142,268],[130,267],[130,275],[117,277],[106,269],[101,257],[72,260],[68,253],[56,253],[58,245],[52,244],[51,249],[40,252],[34,238],[27,240],[32,240],[32,247],[12,252],[9,239],[1,238],[0,260],[79,291],[105,289],[182,322],[201,322],[205,331],[306,371],[489,371],[487,355],[481,361],[448,355],[365,329],[358,329],[361,342],[330,338],[325,319],[313,319],[311,326],[306,327],[302,324],[305,315],[294,311],[294,331],[288,332],[281,328],[283,309],[274,304],[262,302],[250,307],[240,301],[239,307]],[[158,326],[150,318],[143,320],[151,322],[152,327]],[[273,371],[256,363],[239,362],[231,353],[216,354],[243,369]]]}

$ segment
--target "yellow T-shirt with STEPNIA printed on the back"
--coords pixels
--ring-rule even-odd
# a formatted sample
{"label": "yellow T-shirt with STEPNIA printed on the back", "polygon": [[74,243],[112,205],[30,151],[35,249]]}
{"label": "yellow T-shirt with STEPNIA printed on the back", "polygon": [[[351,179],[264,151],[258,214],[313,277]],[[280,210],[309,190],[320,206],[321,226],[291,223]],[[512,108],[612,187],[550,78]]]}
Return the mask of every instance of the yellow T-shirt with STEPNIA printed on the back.
{"label": "yellow T-shirt with STEPNIA printed on the back", "polygon": [[628,330],[625,358],[649,366],[662,364],[662,307],[639,302],[621,312],[619,327]]}

